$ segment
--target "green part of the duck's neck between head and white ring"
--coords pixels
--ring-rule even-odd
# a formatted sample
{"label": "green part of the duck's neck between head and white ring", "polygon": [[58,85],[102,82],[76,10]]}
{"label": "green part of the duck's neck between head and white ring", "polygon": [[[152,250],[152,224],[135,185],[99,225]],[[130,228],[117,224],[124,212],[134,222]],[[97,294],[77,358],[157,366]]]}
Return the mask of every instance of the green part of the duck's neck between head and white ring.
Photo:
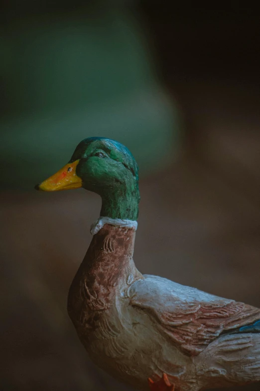
{"label": "green part of the duck's neck between head and white ring", "polygon": [[136,178],[126,178],[125,183],[116,189],[102,192],[102,208],[100,215],[112,219],[137,220],[140,201],[138,182]]}

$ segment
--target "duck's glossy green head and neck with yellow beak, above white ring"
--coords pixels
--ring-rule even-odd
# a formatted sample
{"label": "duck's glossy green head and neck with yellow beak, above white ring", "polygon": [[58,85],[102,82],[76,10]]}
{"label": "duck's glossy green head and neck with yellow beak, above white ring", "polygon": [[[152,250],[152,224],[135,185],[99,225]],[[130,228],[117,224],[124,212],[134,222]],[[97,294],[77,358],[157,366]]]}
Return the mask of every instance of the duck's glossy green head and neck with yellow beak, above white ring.
{"label": "duck's glossy green head and neck with yellow beak, above white ring", "polygon": [[123,144],[104,137],[86,138],[66,166],[36,186],[43,191],[78,187],[102,197],[101,216],[137,219],[138,166]]}

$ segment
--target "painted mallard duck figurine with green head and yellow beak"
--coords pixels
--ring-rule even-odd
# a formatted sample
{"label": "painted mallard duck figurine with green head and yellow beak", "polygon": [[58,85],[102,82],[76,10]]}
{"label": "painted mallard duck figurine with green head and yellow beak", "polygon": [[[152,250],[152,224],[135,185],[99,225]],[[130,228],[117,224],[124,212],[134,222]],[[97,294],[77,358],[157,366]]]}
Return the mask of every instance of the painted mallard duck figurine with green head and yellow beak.
{"label": "painted mallard duck figurine with green head and yellow beak", "polygon": [[136,269],[140,197],[138,167],[128,148],[104,137],[86,138],[69,163],[36,189],[79,187],[102,198],[67,307],[90,358],[143,391],[260,381],[260,309]]}

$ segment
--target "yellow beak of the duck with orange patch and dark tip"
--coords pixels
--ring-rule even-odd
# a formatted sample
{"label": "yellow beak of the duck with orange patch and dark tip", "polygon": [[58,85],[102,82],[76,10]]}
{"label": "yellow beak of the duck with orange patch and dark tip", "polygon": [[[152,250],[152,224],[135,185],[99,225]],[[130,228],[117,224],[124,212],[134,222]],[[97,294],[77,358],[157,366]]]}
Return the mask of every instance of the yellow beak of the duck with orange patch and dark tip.
{"label": "yellow beak of the duck with orange patch and dark tip", "polygon": [[76,174],[78,163],[79,160],[66,164],[66,166],[61,168],[56,174],[50,176],[39,185],[36,185],[35,189],[42,191],[78,189],[82,186],[82,180]]}

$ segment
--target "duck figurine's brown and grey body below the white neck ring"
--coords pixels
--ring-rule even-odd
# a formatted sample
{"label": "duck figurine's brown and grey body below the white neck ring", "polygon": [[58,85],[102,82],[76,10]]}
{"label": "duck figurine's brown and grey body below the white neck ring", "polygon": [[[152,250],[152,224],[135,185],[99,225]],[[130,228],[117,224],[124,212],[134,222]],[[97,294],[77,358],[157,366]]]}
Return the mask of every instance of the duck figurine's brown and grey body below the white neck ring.
{"label": "duck figurine's brown and grey body below the white neck ring", "polygon": [[232,334],[260,310],[141,275],[134,237],[105,224],[72,282],[68,313],[91,359],[138,390],[163,373],[179,391],[251,382],[251,367],[260,380],[260,334]]}

